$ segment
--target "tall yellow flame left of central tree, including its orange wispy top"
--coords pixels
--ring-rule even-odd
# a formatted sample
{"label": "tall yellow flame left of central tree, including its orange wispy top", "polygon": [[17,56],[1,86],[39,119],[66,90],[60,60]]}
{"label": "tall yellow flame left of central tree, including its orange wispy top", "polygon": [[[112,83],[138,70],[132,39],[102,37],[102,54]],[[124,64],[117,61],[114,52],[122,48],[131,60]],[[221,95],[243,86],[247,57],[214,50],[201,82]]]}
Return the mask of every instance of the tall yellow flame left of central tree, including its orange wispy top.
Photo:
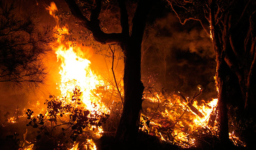
{"label": "tall yellow flame left of central tree, including its orange wispy top", "polygon": [[[80,107],[90,110],[91,112],[96,111],[97,114],[108,114],[109,110],[102,103],[101,97],[93,92],[97,87],[103,86],[104,83],[102,83],[100,76],[93,73],[90,68],[91,62],[86,59],[88,58],[86,54],[89,54],[91,49],[86,46],[83,46],[83,48],[74,46],[71,41],[63,42],[65,39],[64,36],[69,34],[68,27],[59,27],[58,17],[55,14],[58,9],[54,2],[46,9],[49,10],[49,14],[52,15],[57,22],[55,26],[55,37],[57,41],[53,49],[57,61],[61,63],[59,66],[60,82],[57,83],[57,89],[60,90],[61,97],[71,98],[73,89],[77,87],[82,92],[79,97],[79,99],[81,99]],[[103,132],[101,128],[95,131],[97,131],[97,135]]]}

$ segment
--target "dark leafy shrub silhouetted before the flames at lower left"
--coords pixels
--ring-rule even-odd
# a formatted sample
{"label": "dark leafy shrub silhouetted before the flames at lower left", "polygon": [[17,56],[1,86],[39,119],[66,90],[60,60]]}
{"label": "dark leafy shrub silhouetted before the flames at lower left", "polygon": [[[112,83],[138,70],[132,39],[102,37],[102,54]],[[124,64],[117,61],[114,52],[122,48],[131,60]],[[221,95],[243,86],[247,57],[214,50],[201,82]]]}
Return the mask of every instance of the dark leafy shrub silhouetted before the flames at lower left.
{"label": "dark leafy shrub silhouetted before the flames at lower left", "polygon": [[[91,130],[94,131],[106,122],[108,114],[83,109],[79,99],[81,93],[75,88],[71,100],[67,97],[49,95],[50,100],[44,103],[47,107],[46,112],[40,113],[37,117],[33,117],[35,115],[32,110],[27,110],[27,119],[30,120],[27,126],[37,129],[36,139],[41,139],[40,143],[46,140],[47,144],[52,145],[51,148],[65,147],[69,141],[74,143],[84,131],[87,131],[86,135],[89,136]],[[94,106],[96,107],[95,104]]]}

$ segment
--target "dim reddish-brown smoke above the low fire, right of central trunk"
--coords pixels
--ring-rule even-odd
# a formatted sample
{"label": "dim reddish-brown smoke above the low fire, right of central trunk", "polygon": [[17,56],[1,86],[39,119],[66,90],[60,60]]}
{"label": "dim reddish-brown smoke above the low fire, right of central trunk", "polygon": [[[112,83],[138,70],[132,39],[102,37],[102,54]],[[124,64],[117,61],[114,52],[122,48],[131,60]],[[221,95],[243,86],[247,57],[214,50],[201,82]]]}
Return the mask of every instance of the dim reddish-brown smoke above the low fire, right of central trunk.
{"label": "dim reddish-brown smoke above the low fire, right of central trunk", "polygon": [[196,21],[181,25],[169,13],[148,25],[142,48],[142,77],[147,84],[156,76],[155,87],[169,92],[181,91],[193,96],[197,87],[204,89],[201,98],[215,97],[215,54],[210,37]]}

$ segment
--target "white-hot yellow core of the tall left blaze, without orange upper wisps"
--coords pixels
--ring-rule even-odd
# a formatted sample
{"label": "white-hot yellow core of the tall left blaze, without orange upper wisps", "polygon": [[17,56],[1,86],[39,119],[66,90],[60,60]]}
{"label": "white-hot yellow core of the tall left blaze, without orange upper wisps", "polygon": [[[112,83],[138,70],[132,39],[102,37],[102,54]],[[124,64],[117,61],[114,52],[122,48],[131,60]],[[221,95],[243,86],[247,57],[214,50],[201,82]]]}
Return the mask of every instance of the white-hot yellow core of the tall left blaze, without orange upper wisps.
{"label": "white-hot yellow core of the tall left blaze, without orange upper wisps", "polygon": [[[91,92],[100,86],[100,78],[93,74],[90,69],[90,61],[79,57],[77,51],[73,47],[66,48],[60,44],[55,53],[58,61],[61,61],[60,72],[61,82],[57,83],[58,89],[62,94],[71,93],[75,86],[82,91],[81,100],[88,110],[94,110],[95,103],[99,108],[104,108],[99,97],[94,96]],[[65,95],[70,97],[70,95]]]}

